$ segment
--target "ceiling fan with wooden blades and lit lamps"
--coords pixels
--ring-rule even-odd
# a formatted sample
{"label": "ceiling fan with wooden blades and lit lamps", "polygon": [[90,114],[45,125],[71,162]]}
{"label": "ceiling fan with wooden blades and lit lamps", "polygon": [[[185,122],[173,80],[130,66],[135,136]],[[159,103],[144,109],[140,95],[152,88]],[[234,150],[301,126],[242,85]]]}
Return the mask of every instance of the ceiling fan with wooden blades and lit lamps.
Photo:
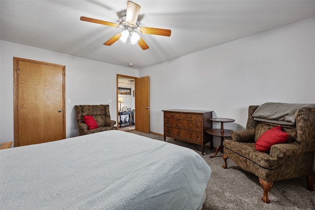
{"label": "ceiling fan with wooden blades and lit lamps", "polygon": [[137,21],[138,15],[140,12],[140,5],[132,2],[127,1],[127,10],[126,15],[121,17],[120,23],[111,23],[107,21],[97,20],[93,18],[88,17],[80,17],[81,21],[87,21],[91,23],[97,23],[105,26],[111,26],[120,28],[123,31],[117,33],[112,38],[108,39],[104,45],[110,46],[114,44],[119,39],[122,40],[124,43],[128,40],[129,45],[130,44],[138,44],[142,50],[149,49],[149,46],[147,43],[141,38],[141,36],[138,33],[147,33],[147,34],[155,34],[155,35],[161,35],[161,36],[170,36],[171,30],[169,29],[158,29],[158,28],[149,28],[149,27],[139,27],[139,22]]}

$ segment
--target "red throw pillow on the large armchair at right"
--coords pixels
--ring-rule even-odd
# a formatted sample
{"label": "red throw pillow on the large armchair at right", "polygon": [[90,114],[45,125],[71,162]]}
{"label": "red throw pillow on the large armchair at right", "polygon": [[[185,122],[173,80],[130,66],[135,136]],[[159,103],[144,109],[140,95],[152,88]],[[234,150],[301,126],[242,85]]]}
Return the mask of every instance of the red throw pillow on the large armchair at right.
{"label": "red throw pillow on the large armchair at right", "polygon": [[257,151],[269,152],[271,146],[286,142],[289,134],[282,130],[281,126],[273,127],[264,132],[256,141]]}

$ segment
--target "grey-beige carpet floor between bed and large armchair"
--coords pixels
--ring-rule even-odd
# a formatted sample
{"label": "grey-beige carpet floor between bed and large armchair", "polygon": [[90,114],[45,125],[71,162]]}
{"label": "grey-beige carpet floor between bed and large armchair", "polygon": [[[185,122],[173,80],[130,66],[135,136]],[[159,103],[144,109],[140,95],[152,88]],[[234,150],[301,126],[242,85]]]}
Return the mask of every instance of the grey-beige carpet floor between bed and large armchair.
{"label": "grey-beige carpet floor between bed and large armchair", "polygon": [[[163,141],[163,136],[130,131]],[[206,188],[206,200],[203,210],[315,210],[315,191],[306,188],[305,177],[275,181],[268,193],[270,204],[263,203],[262,188],[258,178],[239,168],[227,159],[227,169],[223,169],[222,154],[209,158],[215,150],[205,148],[201,155],[200,146],[166,138],[166,142],[190,148],[196,151],[208,163],[212,170]]]}

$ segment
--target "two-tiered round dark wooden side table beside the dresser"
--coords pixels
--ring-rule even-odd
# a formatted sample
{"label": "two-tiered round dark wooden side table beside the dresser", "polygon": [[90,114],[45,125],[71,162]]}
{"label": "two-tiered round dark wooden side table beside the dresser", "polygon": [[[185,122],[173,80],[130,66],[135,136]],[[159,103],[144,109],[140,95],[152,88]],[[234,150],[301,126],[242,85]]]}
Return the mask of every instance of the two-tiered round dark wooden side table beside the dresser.
{"label": "two-tiered round dark wooden side table beside the dresser", "polygon": [[218,151],[220,150],[221,153],[223,153],[223,140],[224,137],[231,137],[231,131],[228,129],[223,128],[223,123],[224,122],[234,122],[235,120],[233,119],[228,119],[228,118],[211,118],[211,121],[214,122],[221,122],[221,129],[208,129],[206,132],[212,136],[219,136],[221,137],[221,145],[217,148],[216,153],[213,156],[210,156],[210,158],[213,158],[217,156]]}

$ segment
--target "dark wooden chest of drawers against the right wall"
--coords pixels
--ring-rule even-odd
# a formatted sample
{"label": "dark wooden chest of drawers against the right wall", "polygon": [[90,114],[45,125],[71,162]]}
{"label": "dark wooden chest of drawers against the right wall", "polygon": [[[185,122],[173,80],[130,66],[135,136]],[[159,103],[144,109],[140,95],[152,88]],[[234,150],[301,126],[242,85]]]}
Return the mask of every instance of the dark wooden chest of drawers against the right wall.
{"label": "dark wooden chest of drawers against the right wall", "polygon": [[206,130],[212,128],[213,111],[200,110],[162,110],[164,112],[164,141],[166,137],[174,138],[201,146],[203,154],[204,145],[210,142],[213,148],[212,136]]}

